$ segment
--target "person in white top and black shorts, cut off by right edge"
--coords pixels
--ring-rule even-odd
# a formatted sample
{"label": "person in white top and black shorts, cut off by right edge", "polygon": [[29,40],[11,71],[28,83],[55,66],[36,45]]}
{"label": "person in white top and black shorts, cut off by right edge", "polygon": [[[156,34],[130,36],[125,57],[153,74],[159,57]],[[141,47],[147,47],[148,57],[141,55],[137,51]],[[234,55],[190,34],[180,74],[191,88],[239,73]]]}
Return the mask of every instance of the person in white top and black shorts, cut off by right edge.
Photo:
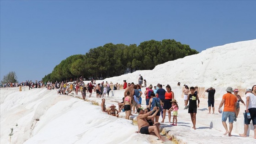
{"label": "person in white top and black shorts, cut off by right edge", "polygon": [[[254,85],[256,87],[256,85]],[[252,87],[253,89],[253,87]],[[249,124],[253,124],[254,128],[254,136],[253,138],[256,139],[256,96],[252,93],[251,89],[246,89],[246,110],[245,110],[245,124],[244,124],[244,133],[239,134],[241,137],[247,136],[247,130],[249,128]],[[247,114],[250,112],[251,118],[247,117]]]}

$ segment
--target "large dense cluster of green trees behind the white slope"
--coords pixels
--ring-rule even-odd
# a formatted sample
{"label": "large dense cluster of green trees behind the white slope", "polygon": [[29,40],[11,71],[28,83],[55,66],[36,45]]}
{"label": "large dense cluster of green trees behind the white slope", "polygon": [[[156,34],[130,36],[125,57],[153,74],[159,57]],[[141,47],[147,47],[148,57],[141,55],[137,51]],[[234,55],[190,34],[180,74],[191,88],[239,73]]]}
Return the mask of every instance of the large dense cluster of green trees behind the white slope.
{"label": "large dense cluster of green trees behind the white slope", "polygon": [[189,45],[175,40],[145,41],[137,46],[107,43],[91,48],[85,55],[72,55],[56,65],[43,81],[70,80],[83,76],[106,78],[123,75],[136,70],[154,69],[156,65],[170,60],[197,54]]}

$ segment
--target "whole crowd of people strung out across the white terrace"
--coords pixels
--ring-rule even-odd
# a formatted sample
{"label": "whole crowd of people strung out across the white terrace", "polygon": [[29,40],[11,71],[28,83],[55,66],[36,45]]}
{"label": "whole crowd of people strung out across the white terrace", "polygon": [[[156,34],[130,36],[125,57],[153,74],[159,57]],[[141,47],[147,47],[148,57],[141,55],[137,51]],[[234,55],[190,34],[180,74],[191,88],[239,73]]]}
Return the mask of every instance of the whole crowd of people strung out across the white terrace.
{"label": "whole crowd of people strung out across the white terrace", "polygon": [[[149,85],[146,87],[146,90],[142,92],[141,87],[146,86],[142,85],[143,77],[139,75],[138,84],[135,85],[133,82],[127,83],[126,80],[123,80],[123,85],[116,83],[113,85],[106,81],[96,84],[95,80],[85,83],[80,79],[74,82],[64,83],[56,81],[52,83],[48,81],[44,83],[42,81],[26,81],[18,84],[6,84],[5,87],[11,86],[29,86],[30,88],[42,88],[46,87],[49,90],[58,89],[57,94],[69,94],[75,91],[77,95],[78,92],[81,92],[83,99],[85,100],[86,93],[89,93],[91,97],[92,92],[96,92],[97,98],[101,99],[101,110],[106,112],[109,115],[118,117],[121,111],[125,112],[125,118],[129,119],[130,116],[133,116],[135,113],[139,114],[137,116],[137,123],[139,128],[139,133],[144,134],[153,134],[156,135],[160,140],[165,141],[166,139],[160,135],[160,123],[165,123],[166,113],[168,114],[168,122],[171,124],[171,112],[172,112],[172,126],[177,126],[177,115],[178,115],[178,102],[175,99],[174,92],[171,91],[171,86],[166,85],[163,89],[163,85],[157,84],[156,86]],[[106,108],[104,96],[109,96],[110,91],[112,91],[110,85],[113,85],[113,90],[120,90],[120,87],[123,86],[124,95],[123,101],[118,103],[118,110],[115,105],[111,105],[109,109]],[[166,90],[166,91],[165,91]],[[208,114],[214,114],[214,95],[215,89],[209,87],[205,92],[208,93]],[[236,122],[236,118],[240,112],[240,102],[245,106],[244,112],[244,133],[240,134],[241,137],[247,136],[248,125],[252,121],[254,126],[254,139],[256,139],[256,85],[253,85],[251,89],[246,89],[245,97],[246,101],[243,101],[241,96],[238,94],[239,90],[233,90],[232,87],[228,87],[225,90],[227,93],[223,95],[222,101],[219,104],[218,111],[222,113],[222,124],[226,130],[224,135],[231,135],[233,129],[233,123]],[[196,114],[197,107],[199,107],[200,100],[198,97],[198,87],[184,85],[184,109],[188,109],[190,113],[193,129],[196,129]],[[234,94],[232,94],[234,93]],[[144,101],[146,101],[146,108],[141,107],[142,96],[144,95]],[[222,111],[222,107],[224,109]],[[136,110],[135,110],[136,108]],[[162,121],[159,123],[159,118],[162,117]],[[229,118],[229,128],[226,124],[227,118]]]}

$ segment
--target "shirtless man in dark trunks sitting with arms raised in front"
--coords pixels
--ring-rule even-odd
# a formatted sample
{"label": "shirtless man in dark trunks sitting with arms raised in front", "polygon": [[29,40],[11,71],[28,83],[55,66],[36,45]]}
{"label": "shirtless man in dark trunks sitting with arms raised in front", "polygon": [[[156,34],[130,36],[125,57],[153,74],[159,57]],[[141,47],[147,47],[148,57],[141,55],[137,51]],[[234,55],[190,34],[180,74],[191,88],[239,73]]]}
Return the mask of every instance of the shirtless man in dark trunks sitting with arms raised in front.
{"label": "shirtless man in dark trunks sitting with arms raised in front", "polygon": [[160,136],[159,129],[157,128],[157,126],[156,125],[150,126],[146,120],[146,117],[149,117],[150,114],[156,110],[157,110],[157,107],[154,107],[152,111],[144,114],[144,110],[142,108],[138,108],[137,112],[139,113],[139,115],[137,117],[137,122],[138,122],[139,132],[142,134],[156,135],[159,140],[165,141],[165,139]]}

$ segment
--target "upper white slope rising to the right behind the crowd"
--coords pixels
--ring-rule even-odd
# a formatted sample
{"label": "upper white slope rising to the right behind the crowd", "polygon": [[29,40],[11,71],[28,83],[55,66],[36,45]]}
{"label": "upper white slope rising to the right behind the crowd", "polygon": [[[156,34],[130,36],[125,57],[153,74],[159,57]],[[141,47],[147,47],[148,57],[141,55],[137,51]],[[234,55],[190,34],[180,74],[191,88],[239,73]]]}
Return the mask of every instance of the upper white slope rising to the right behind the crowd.
{"label": "upper white slope rising to the right behind the crowd", "polygon": [[256,40],[229,43],[208,48],[201,53],[155,66],[153,70],[138,70],[132,74],[105,79],[136,82],[139,74],[147,84],[198,85],[214,87],[251,87],[256,82]]}

